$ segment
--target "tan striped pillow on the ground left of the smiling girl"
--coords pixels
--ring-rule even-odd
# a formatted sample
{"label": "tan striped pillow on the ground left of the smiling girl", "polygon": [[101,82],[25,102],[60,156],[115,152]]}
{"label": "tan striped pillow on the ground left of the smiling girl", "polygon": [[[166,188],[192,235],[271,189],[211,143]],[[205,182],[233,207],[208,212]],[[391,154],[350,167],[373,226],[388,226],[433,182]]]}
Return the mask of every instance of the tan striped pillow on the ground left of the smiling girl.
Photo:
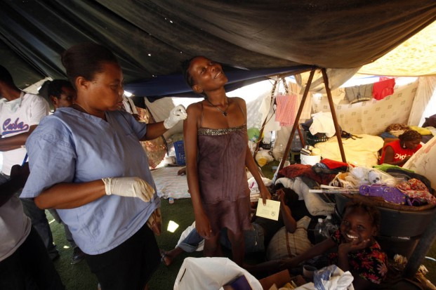
{"label": "tan striped pillow on the ground left of the smiling girl", "polygon": [[267,260],[292,258],[310,249],[312,244],[308,239],[309,223],[310,218],[305,216],[298,220],[295,232],[288,232],[285,227],[276,232],[268,244]]}

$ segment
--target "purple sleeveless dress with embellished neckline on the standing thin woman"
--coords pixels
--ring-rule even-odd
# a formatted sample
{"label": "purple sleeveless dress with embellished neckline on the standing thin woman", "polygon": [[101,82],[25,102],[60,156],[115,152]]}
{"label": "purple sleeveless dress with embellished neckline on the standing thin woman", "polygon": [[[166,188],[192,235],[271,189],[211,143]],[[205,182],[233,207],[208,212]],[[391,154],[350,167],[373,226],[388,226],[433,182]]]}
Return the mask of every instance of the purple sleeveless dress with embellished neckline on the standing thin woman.
{"label": "purple sleeveless dress with embellished neckline on the standing thin woman", "polygon": [[204,211],[214,233],[249,230],[250,190],[246,179],[246,125],[199,128],[198,175]]}

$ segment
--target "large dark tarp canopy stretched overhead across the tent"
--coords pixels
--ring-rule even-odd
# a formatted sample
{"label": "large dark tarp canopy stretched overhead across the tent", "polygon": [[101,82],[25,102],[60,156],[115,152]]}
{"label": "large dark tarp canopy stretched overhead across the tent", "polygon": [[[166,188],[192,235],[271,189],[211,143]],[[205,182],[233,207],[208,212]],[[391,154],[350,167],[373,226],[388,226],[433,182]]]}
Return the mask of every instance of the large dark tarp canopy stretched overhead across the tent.
{"label": "large dark tarp canopy stretched overhead across the tent", "polygon": [[63,78],[60,53],[95,41],[127,83],[194,55],[250,70],[359,67],[435,20],[435,0],[1,0],[0,64],[18,86]]}

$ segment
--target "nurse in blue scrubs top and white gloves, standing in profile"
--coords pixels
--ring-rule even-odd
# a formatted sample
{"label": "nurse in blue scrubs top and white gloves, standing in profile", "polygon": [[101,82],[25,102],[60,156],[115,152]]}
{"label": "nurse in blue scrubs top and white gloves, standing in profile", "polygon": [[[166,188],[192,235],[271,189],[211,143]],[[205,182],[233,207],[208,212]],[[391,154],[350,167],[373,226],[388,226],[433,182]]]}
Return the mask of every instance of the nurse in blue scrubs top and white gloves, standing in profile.
{"label": "nurse in blue scrubs top and white gloves, standing in profile", "polygon": [[58,209],[103,290],[143,290],[159,264],[147,220],[160,200],[139,141],[161,136],[185,110],[176,107],[154,124],[117,110],[123,73],[98,44],[73,46],[62,64],[77,99],[44,118],[27,140],[30,176],[21,197]]}

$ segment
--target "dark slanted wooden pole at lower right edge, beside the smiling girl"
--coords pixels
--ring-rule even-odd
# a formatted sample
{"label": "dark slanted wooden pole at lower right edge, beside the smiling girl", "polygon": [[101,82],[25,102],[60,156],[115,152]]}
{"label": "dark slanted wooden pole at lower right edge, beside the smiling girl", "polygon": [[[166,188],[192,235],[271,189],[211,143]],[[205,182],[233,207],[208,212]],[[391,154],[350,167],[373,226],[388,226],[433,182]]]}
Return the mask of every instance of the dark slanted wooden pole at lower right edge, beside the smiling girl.
{"label": "dark slanted wooden pole at lower right edge, beside the smiling girl", "polygon": [[419,266],[423,263],[425,255],[436,240],[436,210],[433,212],[433,216],[425,229],[421,239],[419,239],[414,252],[411,254],[406,268],[404,268],[403,277],[413,278],[418,271]]}

